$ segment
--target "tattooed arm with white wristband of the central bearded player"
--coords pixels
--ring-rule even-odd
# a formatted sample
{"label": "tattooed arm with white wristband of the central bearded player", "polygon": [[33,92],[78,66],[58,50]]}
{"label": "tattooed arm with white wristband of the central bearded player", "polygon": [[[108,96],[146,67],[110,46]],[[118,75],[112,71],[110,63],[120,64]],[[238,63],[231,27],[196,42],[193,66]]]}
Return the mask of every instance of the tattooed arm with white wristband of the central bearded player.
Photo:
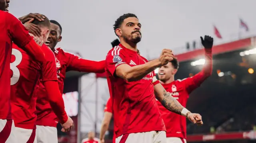
{"label": "tattooed arm with white wristband of the central bearded player", "polygon": [[192,123],[197,123],[198,125],[203,124],[200,114],[191,113],[184,108],[160,83],[154,85],[154,92],[156,99],[160,101],[167,110],[188,118]]}

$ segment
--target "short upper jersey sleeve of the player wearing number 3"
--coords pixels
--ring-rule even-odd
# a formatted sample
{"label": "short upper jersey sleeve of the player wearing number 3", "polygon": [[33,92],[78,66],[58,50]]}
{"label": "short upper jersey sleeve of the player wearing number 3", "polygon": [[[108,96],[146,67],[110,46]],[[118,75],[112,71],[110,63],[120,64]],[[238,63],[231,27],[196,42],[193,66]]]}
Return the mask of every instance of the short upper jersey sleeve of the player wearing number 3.
{"label": "short upper jersey sleeve of the player wearing number 3", "polygon": [[44,44],[42,45],[42,50],[44,51],[46,56],[46,61],[44,61],[42,65],[42,81],[58,81],[54,53],[48,46]]}

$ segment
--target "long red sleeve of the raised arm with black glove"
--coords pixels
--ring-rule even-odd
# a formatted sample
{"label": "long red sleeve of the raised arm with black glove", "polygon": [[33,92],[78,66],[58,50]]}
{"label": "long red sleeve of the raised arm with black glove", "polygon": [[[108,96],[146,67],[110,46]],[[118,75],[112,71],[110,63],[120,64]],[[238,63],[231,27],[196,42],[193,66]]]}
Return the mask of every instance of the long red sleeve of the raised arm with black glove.
{"label": "long red sleeve of the raised arm with black glove", "polygon": [[205,63],[202,71],[182,80],[188,93],[199,87],[212,74],[212,50],[205,49]]}

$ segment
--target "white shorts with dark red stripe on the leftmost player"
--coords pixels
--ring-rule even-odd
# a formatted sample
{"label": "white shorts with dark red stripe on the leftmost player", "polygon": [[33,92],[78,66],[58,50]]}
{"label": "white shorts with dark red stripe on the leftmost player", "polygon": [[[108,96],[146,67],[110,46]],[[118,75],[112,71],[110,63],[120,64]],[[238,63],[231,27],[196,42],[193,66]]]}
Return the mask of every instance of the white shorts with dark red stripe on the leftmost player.
{"label": "white shorts with dark red stripe on the leftmost player", "polygon": [[0,143],[17,143],[13,120],[0,119]]}

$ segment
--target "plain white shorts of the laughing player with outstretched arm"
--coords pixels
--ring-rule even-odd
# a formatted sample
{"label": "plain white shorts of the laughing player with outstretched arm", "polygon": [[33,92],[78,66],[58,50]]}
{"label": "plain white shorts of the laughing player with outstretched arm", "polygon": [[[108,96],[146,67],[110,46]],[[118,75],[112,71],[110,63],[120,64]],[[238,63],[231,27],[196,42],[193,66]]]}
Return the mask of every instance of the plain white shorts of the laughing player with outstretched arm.
{"label": "plain white shorts of the laughing player with outstretched arm", "polygon": [[37,143],[58,143],[57,128],[36,125]]}

